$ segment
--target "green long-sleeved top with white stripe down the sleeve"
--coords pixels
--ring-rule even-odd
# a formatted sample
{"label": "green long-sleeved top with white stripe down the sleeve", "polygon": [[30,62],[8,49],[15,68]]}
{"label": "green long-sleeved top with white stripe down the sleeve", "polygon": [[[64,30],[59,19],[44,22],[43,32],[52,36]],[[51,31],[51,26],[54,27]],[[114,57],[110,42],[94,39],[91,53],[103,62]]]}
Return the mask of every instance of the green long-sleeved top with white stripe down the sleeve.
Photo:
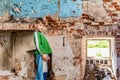
{"label": "green long-sleeved top with white stripe down the sleeve", "polygon": [[34,32],[34,42],[35,42],[35,46],[37,48],[35,51],[36,55],[52,53],[52,49],[43,33],[35,31]]}

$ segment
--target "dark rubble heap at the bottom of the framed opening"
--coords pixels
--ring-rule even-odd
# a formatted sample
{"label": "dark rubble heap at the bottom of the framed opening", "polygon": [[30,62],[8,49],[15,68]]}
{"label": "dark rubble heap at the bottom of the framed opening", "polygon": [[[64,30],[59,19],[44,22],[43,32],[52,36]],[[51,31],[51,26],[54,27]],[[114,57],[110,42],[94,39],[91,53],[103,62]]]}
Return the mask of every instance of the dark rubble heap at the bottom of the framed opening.
{"label": "dark rubble heap at the bottom of the framed opening", "polygon": [[109,67],[98,67],[94,64],[86,66],[84,80],[116,80]]}

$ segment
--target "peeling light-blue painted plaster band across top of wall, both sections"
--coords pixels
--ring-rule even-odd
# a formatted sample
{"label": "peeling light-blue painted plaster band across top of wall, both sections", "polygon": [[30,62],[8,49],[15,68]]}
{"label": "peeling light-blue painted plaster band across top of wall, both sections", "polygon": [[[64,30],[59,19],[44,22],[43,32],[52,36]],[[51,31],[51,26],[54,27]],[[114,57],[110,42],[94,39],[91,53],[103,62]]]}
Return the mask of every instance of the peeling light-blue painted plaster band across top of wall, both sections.
{"label": "peeling light-blue painted plaster band across top of wall, both sections", "polygon": [[0,6],[0,16],[8,11],[15,18],[79,17],[83,12],[81,0],[1,0]]}

